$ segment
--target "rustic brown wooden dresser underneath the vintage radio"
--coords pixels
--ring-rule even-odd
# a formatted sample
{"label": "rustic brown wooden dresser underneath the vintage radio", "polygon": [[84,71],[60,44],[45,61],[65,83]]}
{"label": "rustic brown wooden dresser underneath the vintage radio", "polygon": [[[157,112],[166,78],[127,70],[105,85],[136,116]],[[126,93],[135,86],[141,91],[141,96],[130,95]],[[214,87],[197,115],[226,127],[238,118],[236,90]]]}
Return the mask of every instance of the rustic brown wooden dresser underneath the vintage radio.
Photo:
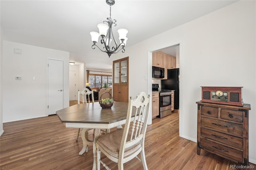
{"label": "rustic brown wooden dresser underneath the vintage radio", "polygon": [[248,165],[248,112],[244,106],[196,102],[197,154],[201,149]]}

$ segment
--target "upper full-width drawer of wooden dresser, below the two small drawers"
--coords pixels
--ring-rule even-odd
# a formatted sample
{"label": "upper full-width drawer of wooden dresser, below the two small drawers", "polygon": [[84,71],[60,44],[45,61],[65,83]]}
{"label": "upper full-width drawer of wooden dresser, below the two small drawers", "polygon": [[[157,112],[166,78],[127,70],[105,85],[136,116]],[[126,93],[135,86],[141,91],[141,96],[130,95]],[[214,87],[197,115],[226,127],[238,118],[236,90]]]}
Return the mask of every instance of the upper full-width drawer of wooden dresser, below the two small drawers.
{"label": "upper full-width drawer of wooden dresser, below the two small drawers", "polygon": [[243,125],[239,125],[236,123],[201,117],[201,127],[212,128],[213,130],[224,133],[228,132],[229,134],[232,134],[234,136],[243,136]]}

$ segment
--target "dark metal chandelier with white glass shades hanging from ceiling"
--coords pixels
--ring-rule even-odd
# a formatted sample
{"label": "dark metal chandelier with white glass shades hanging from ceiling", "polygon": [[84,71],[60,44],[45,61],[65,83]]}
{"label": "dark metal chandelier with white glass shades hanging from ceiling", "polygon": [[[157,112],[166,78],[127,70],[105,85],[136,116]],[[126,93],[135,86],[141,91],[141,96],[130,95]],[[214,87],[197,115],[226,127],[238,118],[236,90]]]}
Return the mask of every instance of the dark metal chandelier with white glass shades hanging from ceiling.
{"label": "dark metal chandelier with white glass shades hanging from ceiling", "polygon": [[[116,20],[112,20],[111,18],[111,6],[115,4],[114,0],[106,0],[106,3],[110,6],[110,16],[107,18],[103,24],[98,24],[99,33],[98,32],[90,32],[92,36],[92,49],[95,49],[96,43],[98,42],[99,37],[101,36],[100,42],[103,44],[103,49],[100,49],[102,52],[106,52],[108,57],[110,57],[113,53],[118,53],[120,50],[124,53],[127,37],[126,34],[128,31],[126,29],[119,29],[117,32],[119,34],[120,44],[118,45],[116,40],[114,39],[113,32],[112,32],[112,25],[116,26]],[[111,38],[112,37],[112,38]],[[111,41],[114,40],[114,45],[111,47]]]}

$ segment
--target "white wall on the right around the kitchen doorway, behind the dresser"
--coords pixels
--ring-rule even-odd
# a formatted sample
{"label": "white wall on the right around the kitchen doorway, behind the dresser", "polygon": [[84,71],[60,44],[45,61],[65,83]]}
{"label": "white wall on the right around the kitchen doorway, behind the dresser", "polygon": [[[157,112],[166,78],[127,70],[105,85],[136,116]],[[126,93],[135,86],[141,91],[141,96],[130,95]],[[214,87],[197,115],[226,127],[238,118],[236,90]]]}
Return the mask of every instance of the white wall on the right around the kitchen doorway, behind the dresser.
{"label": "white wall on the right around the kitchen doorway, behind the dresser", "polygon": [[[180,136],[196,142],[200,86],[243,86],[249,111],[249,162],[256,164],[256,2],[239,1],[126,48],[129,96],[151,92],[148,51],[180,43]],[[136,69],[134,69],[136,68]],[[148,70],[148,71],[147,71]]]}

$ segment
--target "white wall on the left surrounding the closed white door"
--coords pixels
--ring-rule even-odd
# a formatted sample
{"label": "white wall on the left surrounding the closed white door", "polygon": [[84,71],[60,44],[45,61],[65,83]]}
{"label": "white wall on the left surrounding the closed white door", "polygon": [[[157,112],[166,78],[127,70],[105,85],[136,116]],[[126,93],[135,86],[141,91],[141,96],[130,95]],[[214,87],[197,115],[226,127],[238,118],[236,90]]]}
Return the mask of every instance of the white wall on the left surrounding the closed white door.
{"label": "white wall on the left surrounding the closed white door", "polygon": [[3,122],[46,116],[46,58],[64,60],[64,107],[69,106],[69,52],[8,41],[2,49]]}

